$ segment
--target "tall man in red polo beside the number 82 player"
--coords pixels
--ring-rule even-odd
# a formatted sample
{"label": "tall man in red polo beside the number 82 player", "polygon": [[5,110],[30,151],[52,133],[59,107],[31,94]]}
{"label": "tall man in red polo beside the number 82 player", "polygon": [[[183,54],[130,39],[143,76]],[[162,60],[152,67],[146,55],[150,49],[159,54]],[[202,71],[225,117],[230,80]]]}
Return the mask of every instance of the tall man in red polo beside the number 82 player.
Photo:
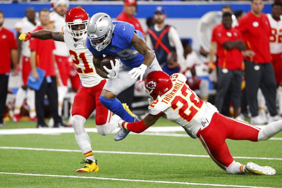
{"label": "tall man in red polo beside the number 82 player", "polygon": [[251,11],[239,20],[237,27],[242,33],[247,49],[255,52],[254,56],[245,58],[246,95],[253,124],[264,122],[258,114],[259,88],[264,94],[270,112],[268,123],[281,119],[276,110],[276,81],[269,49],[271,28],[267,16],[262,13],[263,8],[262,0],[252,0]]}

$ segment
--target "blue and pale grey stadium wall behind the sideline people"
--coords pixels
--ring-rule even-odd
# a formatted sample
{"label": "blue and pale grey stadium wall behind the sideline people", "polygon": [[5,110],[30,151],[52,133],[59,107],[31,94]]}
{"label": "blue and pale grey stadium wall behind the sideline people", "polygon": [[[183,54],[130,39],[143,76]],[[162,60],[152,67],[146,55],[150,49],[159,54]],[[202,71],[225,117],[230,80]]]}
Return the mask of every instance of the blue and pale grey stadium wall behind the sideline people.
{"label": "blue and pale grey stadium wall behind the sideline people", "polygon": [[[72,2],[71,2],[72,3]],[[197,39],[196,28],[202,15],[210,11],[220,11],[223,5],[230,5],[234,10],[242,9],[244,12],[250,10],[249,2],[138,2],[136,17],[139,18],[145,30],[146,18],[152,17],[157,6],[163,6],[167,13],[167,24],[175,26],[181,38],[191,38],[193,49],[200,47]],[[122,11],[122,2],[75,2],[71,7],[82,6],[92,16],[98,12],[105,12],[112,18],[116,18]],[[15,23],[24,17],[25,10],[33,7],[35,11],[41,8],[50,8],[50,4],[42,3],[11,3],[0,4],[0,10],[5,14],[4,27],[13,29]],[[271,12],[271,4],[265,4],[264,13]]]}

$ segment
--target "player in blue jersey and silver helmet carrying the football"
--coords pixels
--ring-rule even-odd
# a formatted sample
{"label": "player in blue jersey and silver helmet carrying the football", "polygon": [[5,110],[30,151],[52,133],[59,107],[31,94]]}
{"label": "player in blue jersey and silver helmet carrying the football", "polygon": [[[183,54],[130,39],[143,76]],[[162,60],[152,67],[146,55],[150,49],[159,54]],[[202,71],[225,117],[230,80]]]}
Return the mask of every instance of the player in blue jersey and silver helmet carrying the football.
{"label": "player in blue jersey and silver helmet carrying the football", "polygon": [[[96,72],[103,78],[109,78],[100,95],[101,103],[126,122],[134,122],[136,118],[123,108],[116,98],[119,93],[132,86],[140,77],[144,79],[154,70],[162,70],[139,30],[127,22],[113,22],[106,13],[94,14],[87,24],[86,46],[93,54],[93,64]],[[114,55],[120,60],[111,62],[112,69],[100,67],[103,55]],[[120,64],[121,63],[121,64]],[[127,129],[121,128],[115,135],[115,140],[121,140],[128,135]]]}

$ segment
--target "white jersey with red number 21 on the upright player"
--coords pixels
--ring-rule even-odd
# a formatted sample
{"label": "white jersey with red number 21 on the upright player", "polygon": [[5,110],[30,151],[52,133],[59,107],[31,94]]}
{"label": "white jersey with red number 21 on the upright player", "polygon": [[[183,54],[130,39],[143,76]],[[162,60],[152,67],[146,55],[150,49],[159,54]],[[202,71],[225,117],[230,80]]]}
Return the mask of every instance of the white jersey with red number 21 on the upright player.
{"label": "white jersey with red number 21 on the upright player", "polygon": [[66,27],[63,28],[63,35],[69,54],[76,66],[82,86],[93,87],[98,85],[104,78],[96,73],[93,65],[93,55],[86,47],[86,36],[75,42]]}

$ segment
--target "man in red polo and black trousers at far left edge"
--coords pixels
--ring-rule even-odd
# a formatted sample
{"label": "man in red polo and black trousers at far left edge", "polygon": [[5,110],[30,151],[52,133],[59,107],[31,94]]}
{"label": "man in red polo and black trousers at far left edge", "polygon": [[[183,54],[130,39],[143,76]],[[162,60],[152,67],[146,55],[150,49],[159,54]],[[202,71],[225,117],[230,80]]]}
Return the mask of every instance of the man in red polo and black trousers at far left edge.
{"label": "man in red polo and black trousers at far left edge", "polygon": [[0,10],[0,46],[1,46],[1,68],[0,68],[0,127],[4,126],[3,116],[6,109],[6,98],[8,93],[8,78],[11,72],[11,59],[13,62],[13,75],[17,74],[18,45],[13,32],[3,28],[4,14]]}

